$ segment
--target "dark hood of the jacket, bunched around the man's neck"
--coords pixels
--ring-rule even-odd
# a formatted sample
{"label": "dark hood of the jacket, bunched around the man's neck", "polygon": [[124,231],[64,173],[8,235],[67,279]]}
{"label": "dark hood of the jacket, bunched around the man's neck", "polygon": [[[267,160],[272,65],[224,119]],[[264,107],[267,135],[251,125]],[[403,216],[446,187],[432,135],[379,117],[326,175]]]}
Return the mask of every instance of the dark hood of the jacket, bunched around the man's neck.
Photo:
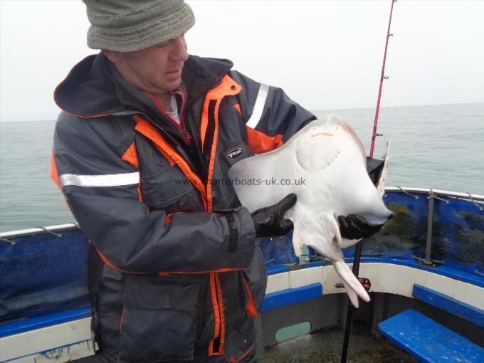
{"label": "dark hood of the jacket, bunched around the man's neck", "polygon": [[[188,102],[200,98],[219,83],[232,65],[226,59],[189,56],[181,73],[182,83],[189,90]],[[142,112],[142,101],[137,99],[135,86],[123,82],[102,52],[76,64],[57,86],[54,100],[61,110],[78,117]]]}

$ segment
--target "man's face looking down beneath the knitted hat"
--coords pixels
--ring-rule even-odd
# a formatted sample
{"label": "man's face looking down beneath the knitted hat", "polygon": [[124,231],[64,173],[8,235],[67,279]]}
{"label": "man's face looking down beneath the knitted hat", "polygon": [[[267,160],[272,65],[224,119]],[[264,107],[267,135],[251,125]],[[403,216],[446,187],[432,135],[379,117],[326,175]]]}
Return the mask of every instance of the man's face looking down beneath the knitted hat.
{"label": "man's face looking down beneath the knitted hat", "polygon": [[107,56],[124,78],[150,93],[166,93],[177,88],[188,59],[184,35],[141,51],[115,53],[115,59],[112,54]]}

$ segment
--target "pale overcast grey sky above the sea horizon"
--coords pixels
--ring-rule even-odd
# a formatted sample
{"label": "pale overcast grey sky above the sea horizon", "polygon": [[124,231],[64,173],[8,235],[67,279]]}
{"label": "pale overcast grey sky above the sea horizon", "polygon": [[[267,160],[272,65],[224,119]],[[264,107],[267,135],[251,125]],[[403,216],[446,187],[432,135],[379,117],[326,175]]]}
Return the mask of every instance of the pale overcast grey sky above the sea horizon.
{"label": "pale overcast grey sky above the sea horizon", "polygon": [[[187,1],[189,52],[231,59],[310,110],[374,107],[391,2]],[[81,1],[0,1],[0,120],[53,120],[85,46]],[[397,1],[383,106],[484,102],[484,1]]]}

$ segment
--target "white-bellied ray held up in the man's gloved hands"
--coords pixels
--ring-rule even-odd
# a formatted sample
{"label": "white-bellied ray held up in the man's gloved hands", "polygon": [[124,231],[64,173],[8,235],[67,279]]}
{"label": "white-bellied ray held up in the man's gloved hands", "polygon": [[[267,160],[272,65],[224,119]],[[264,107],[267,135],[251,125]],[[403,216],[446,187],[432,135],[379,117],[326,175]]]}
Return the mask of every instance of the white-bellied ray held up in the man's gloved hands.
{"label": "white-bellied ray held up in the man's gloved hands", "polygon": [[372,184],[362,142],[351,127],[335,115],[315,120],[281,147],[241,160],[228,170],[239,201],[253,212],[295,193],[298,201],[285,217],[294,223],[293,247],[301,256],[303,245],[330,258],[349,299],[369,295],[344,263],[341,249],[359,240],[341,237],[337,216],[359,214],[369,223],[382,224],[391,211],[382,200],[389,167],[386,151],[378,189]]}

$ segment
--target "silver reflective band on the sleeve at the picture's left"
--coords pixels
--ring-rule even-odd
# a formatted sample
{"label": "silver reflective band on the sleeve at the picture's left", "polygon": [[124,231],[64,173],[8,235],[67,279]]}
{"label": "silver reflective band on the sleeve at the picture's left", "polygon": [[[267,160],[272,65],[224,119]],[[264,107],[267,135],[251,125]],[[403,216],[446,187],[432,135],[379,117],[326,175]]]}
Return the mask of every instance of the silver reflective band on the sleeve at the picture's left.
{"label": "silver reflective band on the sleeve at the picture's left", "polygon": [[75,175],[62,174],[59,177],[61,186],[121,186],[140,183],[138,172],[126,174],[105,174],[105,175]]}

